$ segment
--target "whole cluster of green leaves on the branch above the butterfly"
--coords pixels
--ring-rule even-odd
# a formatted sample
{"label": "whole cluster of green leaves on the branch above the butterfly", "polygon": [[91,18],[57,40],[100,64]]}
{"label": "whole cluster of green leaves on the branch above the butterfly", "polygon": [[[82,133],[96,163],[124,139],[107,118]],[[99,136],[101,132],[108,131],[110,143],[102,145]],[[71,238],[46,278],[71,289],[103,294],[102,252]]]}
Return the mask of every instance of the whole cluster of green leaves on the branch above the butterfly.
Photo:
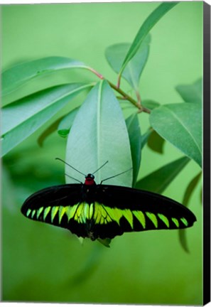
{"label": "whole cluster of green leaves on the branch above the butterfly", "polygon": [[[93,87],[81,107],[70,109],[68,114],[55,120],[43,131],[38,139],[40,145],[43,145],[44,139],[57,129],[60,136],[68,136],[67,163],[80,168],[83,173],[93,172],[105,161],[109,161],[109,168],[106,166],[96,173],[97,182],[126,171],[132,166],[133,172],[129,171],[122,176],[112,178],[110,184],[136,185],[138,188],[147,188],[159,193],[162,193],[164,188],[173,181],[173,178],[189,161],[188,158],[193,158],[201,166],[201,104],[160,105],[152,99],[145,99],[143,107],[141,106],[139,80],[148,60],[151,41],[148,32],[176,4],[176,2],[163,3],[158,6],[146,18],[133,43],[119,43],[109,46],[106,50],[109,64],[115,72],[120,72],[120,75],[122,74],[129,82],[136,93],[137,102],[111,82],[101,81]],[[21,85],[45,73],[50,75],[55,71],[72,68],[85,68],[101,76],[78,60],[62,57],[42,58],[6,70],[2,75],[3,93],[7,95],[11,91],[18,90]],[[149,122],[155,131],[149,128],[146,134],[141,136],[139,126],[141,113],[138,115],[134,112],[125,121],[119,102],[109,85],[119,92],[122,98],[126,97],[128,102],[138,107],[139,112],[151,113]],[[200,85],[201,82],[197,81],[193,85],[180,85],[176,88],[185,102],[198,102],[201,97]],[[11,151],[65,107],[70,99],[90,87],[92,85],[79,83],[58,85],[7,104],[2,109],[2,154],[5,155]],[[183,151],[188,158],[181,158],[167,164],[136,183],[141,163],[141,149],[144,148],[144,144],[148,141],[148,146],[153,151],[162,154],[163,139]],[[70,177],[77,176],[75,171],[68,167],[66,173]],[[67,178],[67,183],[70,182],[72,179]]]}

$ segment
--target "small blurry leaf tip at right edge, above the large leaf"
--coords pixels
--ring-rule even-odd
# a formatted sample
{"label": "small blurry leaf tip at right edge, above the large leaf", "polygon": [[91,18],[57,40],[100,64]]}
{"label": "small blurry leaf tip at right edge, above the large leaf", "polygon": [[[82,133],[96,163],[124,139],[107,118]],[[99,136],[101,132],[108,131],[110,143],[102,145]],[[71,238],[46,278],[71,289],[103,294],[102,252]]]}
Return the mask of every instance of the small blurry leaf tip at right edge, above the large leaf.
{"label": "small blurry leaf tip at right edge, above the large leaf", "polygon": [[191,85],[178,85],[176,90],[185,102],[202,103],[202,78]]}

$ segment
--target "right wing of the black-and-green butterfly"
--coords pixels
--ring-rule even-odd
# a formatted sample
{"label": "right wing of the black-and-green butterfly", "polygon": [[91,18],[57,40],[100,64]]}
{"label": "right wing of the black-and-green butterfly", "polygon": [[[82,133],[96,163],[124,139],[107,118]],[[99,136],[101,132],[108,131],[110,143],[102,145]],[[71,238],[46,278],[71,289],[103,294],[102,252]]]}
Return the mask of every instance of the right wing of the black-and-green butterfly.
{"label": "right wing of the black-and-green butterfly", "polygon": [[100,238],[124,232],[191,227],[196,218],[171,198],[114,185],[97,185],[92,231]]}

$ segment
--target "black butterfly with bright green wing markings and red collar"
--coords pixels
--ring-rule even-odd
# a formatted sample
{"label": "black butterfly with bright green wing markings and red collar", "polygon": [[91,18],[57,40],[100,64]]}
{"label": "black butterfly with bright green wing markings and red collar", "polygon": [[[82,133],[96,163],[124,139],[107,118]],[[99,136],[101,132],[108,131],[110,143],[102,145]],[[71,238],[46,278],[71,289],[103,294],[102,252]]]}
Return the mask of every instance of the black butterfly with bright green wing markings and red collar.
{"label": "black butterfly with bright green wing markings and red collar", "polygon": [[112,239],[124,232],[178,230],[196,221],[193,212],[171,198],[146,190],[96,184],[94,173],[85,176],[85,183],[39,190],[26,199],[21,212],[31,220],[63,227],[92,240]]}

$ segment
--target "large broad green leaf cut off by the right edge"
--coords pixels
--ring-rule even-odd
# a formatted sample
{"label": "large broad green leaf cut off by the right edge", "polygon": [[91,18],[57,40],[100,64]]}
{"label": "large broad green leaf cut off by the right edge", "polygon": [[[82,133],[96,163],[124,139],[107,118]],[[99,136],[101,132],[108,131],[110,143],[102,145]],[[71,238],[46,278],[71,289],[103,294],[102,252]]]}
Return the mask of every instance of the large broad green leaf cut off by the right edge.
{"label": "large broad green leaf cut off by the right edge", "polygon": [[202,166],[201,104],[166,104],[153,109],[149,120],[163,139]]}

